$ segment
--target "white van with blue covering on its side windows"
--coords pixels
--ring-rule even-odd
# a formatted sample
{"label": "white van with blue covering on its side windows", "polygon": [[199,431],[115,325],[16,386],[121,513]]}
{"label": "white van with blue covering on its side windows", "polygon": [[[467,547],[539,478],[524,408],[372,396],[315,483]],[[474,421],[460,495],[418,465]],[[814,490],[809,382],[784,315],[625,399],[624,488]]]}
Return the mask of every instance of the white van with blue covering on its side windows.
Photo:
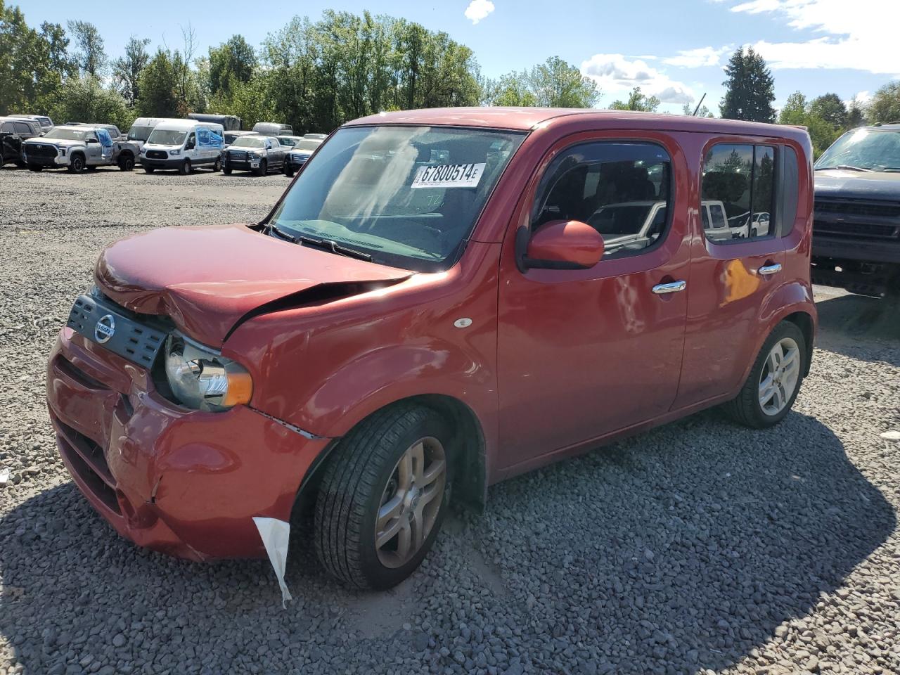
{"label": "white van with blue covering on its side windows", "polygon": [[140,148],[140,166],[152,174],[157,168],[174,168],[182,175],[190,174],[196,166],[221,168],[221,124],[207,121],[161,121]]}

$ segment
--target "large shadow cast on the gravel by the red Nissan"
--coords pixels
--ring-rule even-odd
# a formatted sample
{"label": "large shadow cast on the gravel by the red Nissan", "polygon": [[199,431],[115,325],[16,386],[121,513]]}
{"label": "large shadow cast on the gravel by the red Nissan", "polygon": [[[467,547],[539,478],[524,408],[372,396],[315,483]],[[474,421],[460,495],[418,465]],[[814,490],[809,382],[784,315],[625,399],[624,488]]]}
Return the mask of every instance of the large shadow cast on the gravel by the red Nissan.
{"label": "large shadow cast on the gravel by the red Nissan", "polygon": [[26,675],[693,675],[752,660],[896,527],[837,437],[796,413],[753,432],[702,413],[489,500],[384,594],[330,581],[294,536],[284,611],[266,561],[139,550],[65,483],[0,518],[0,634]]}

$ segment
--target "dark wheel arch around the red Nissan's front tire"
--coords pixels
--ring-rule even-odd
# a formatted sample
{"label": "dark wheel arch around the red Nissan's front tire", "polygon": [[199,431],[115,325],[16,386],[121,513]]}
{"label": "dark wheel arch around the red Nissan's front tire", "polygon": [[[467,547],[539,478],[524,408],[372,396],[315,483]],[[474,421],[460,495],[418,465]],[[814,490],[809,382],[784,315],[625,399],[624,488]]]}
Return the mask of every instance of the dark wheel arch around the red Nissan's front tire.
{"label": "dark wheel arch around the red Nissan's front tire", "polygon": [[[454,455],[452,475],[455,476],[452,498],[477,512],[482,512],[487,501],[488,480],[484,430],[478,416],[463,401],[446,394],[417,394],[373,410],[365,418],[357,420],[352,428],[358,427],[365,420],[387,408],[410,403],[435,410],[453,429],[454,435],[450,439]],[[311,513],[325,474],[325,467],[339,443],[340,438],[332,439],[303,476],[294,501],[295,514]]]}

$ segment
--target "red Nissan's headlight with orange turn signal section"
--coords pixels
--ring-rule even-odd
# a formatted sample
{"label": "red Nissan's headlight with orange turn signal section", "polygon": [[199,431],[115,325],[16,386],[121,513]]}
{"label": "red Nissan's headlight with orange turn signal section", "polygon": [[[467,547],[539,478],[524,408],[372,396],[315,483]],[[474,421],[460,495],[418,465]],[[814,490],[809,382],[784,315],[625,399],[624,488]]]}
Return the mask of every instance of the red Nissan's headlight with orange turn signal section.
{"label": "red Nissan's headlight with orange turn signal section", "polygon": [[194,410],[228,410],[253,393],[243,366],[178,333],[166,339],[166,380],[175,399]]}

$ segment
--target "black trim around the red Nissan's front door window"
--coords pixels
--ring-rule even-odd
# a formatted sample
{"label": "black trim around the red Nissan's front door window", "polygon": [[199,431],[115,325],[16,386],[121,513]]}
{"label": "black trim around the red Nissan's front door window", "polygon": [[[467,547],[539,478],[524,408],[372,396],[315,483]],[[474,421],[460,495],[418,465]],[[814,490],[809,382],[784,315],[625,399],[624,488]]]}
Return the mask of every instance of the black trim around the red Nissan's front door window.
{"label": "black trim around the red Nissan's front door window", "polygon": [[[655,146],[657,148],[662,149],[662,151],[665,153],[666,157],[668,158],[668,162],[669,162],[669,195],[666,198],[666,222],[665,222],[665,225],[663,226],[662,234],[660,235],[660,237],[656,238],[656,240],[653,242],[653,244],[651,244],[648,247],[639,248],[636,250],[622,250],[620,252],[612,254],[611,257],[607,257],[606,251],[604,251],[603,257],[600,258],[598,266],[603,265],[603,263],[605,261],[639,257],[646,253],[650,253],[652,251],[655,251],[658,247],[661,247],[662,244],[665,242],[665,240],[667,238],[669,238],[669,234],[672,229],[672,220],[674,218],[674,211],[675,211],[675,209],[673,207],[674,207],[674,204],[676,201],[675,200],[676,181],[675,181],[675,166],[674,166],[675,161],[671,156],[671,152],[669,151],[669,148],[666,148],[666,146],[664,144],[662,144],[662,142],[660,142],[658,140],[654,140],[654,139],[626,138],[626,137],[610,137],[610,138],[604,138],[604,139],[584,139],[584,140],[575,141],[572,144],[567,145],[564,148],[560,148],[557,152],[555,152],[554,157],[547,163],[544,171],[541,173],[541,175],[539,175],[537,177],[534,193],[530,197],[531,203],[530,203],[530,205],[527,205],[527,210],[526,210],[528,237],[527,238],[517,237],[519,239],[517,249],[518,248],[522,249],[521,251],[517,250],[517,258],[521,258],[521,257],[525,256],[525,249],[527,248],[528,242],[534,236],[534,233],[535,233],[534,223],[535,223],[537,214],[539,214],[539,212],[540,212],[540,211],[538,211],[537,205],[539,203],[545,202],[546,197],[549,196],[549,190],[547,189],[547,184],[545,183],[545,181],[549,180],[550,176],[552,175],[552,172],[554,172],[554,167],[557,166],[558,163],[562,162],[565,159],[565,157],[570,156],[572,154],[572,150],[574,148],[580,148],[581,146],[586,146],[586,145],[591,145],[591,146],[592,145]],[[590,166],[590,164],[594,164],[594,163],[602,163],[602,162],[590,162],[590,163],[586,163],[586,164],[588,164]],[[578,164],[575,166],[581,166],[581,164]],[[575,168],[575,166],[572,166],[572,168]],[[570,171],[571,170],[572,169],[570,169]],[[560,179],[562,177],[563,176],[560,176]],[[557,183],[558,183],[558,180],[557,180]],[[556,183],[554,183],[554,187],[555,187],[555,184]]]}

